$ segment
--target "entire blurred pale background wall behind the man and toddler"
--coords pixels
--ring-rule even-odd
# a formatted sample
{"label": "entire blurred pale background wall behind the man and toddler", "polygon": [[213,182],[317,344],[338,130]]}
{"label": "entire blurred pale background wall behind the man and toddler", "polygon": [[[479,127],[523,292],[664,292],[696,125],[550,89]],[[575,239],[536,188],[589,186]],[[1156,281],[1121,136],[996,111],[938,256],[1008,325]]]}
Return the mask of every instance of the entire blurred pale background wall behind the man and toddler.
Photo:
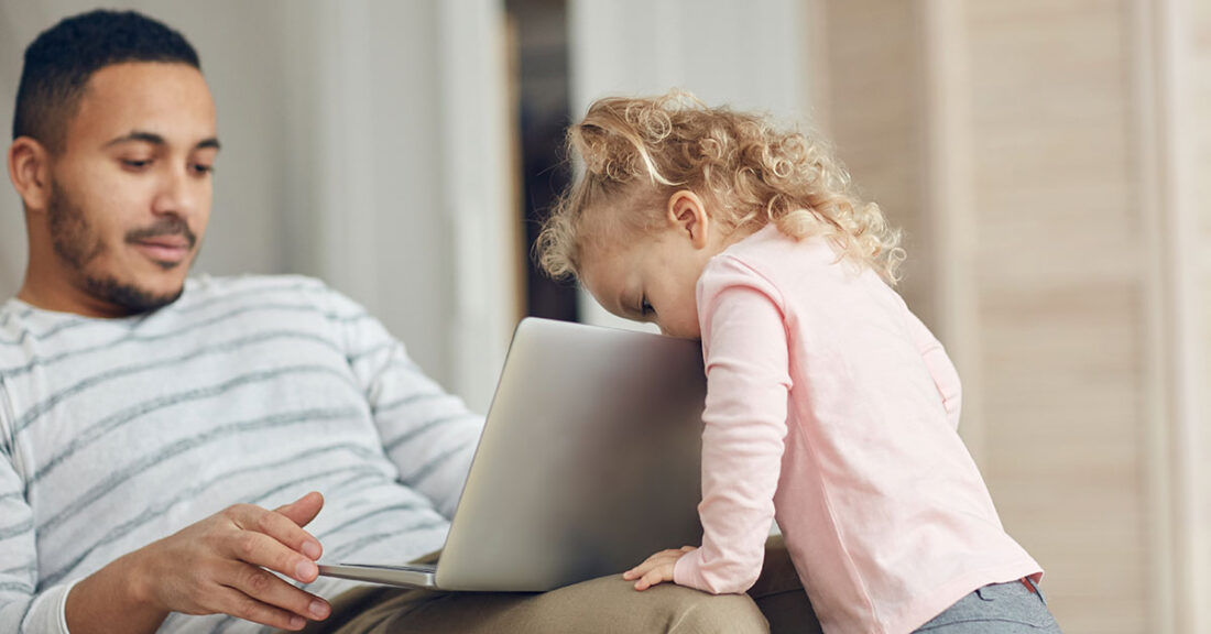
{"label": "entire blurred pale background wall behind the man and toddler", "polygon": [[[901,293],[1068,633],[1211,633],[1207,0],[120,2],[199,48],[223,155],[196,272],[322,277],[486,409],[563,127],[679,86],[831,138],[905,227]],[[0,0],[24,46],[82,0]],[[0,296],[24,229],[0,195]]]}

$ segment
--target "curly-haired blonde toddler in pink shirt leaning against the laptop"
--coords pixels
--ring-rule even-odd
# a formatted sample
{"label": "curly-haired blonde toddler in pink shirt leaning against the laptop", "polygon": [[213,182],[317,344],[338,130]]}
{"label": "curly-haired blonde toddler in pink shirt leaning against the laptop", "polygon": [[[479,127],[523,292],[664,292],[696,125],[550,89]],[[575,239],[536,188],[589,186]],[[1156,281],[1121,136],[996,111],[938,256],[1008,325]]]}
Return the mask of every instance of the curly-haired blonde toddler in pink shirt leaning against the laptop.
{"label": "curly-haired blonde toddler in pink shirt leaning against the laptop", "polygon": [[820,143],[672,92],[596,102],[568,146],[543,267],[702,341],[702,543],[636,589],[745,592],[776,518],[827,633],[1058,632],[955,431],[958,375],[891,288],[899,232]]}

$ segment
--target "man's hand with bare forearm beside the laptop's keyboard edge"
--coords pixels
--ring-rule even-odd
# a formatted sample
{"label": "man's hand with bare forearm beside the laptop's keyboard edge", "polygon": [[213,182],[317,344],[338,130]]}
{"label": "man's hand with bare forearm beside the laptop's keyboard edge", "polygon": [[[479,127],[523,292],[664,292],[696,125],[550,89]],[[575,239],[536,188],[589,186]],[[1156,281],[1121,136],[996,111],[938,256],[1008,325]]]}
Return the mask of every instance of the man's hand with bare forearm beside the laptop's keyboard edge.
{"label": "man's hand with bare forearm beside the laptop's keyboard edge", "polygon": [[315,581],[322,551],[302,526],[321,507],[323,497],[317,492],[275,511],[236,505],[136,551],[115,561],[125,572],[117,575],[126,583],[120,596],[113,596],[114,588],[103,588],[99,575],[73,588],[68,628],[93,630],[94,617],[113,610],[98,603],[105,595],[137,606],[139,613],[127,616],[140,623],[155,621],[156,627],[168,612],[224,613],[288,630],[302,629],[308,619],[327,618],[327,601],[269,572],[303,583]]}

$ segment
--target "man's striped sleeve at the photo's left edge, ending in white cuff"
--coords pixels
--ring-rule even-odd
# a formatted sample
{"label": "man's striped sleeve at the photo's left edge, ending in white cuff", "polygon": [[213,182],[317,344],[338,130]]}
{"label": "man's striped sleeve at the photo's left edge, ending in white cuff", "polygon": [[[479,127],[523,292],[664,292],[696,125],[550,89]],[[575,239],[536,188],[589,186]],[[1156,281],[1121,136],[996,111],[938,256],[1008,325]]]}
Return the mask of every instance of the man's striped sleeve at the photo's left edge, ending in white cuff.
{"label": "man's striped sleeve at the photo's left edge, ending in white cuff", "polygon": [[70,584],[38,588],[34,513],[13,465],[6,398],[0,384],[0,632],[68,634],[63,609]]}

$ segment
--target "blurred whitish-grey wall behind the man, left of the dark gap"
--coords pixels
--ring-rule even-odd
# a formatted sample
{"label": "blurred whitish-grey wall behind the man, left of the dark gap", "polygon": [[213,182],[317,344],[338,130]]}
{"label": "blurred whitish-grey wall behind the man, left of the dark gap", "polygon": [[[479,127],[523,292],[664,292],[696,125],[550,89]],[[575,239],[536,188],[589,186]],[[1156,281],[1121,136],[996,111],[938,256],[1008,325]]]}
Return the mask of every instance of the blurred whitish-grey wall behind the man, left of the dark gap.
{"label": "blurred whitish-grey wall behind the man, left of the dark gap", "polygon": [[[493,0],[114,2],[194,44],[223,152],[195,272],[314,275],[486,409],[521,307],[504,6]],[[24,47],[88,0],[0,0],[0,121]],[[6,129],[11,129],[7,128]],[[0,296],[24,220],[0,195]],[[517,240],[521,240],[520,237]]]}

